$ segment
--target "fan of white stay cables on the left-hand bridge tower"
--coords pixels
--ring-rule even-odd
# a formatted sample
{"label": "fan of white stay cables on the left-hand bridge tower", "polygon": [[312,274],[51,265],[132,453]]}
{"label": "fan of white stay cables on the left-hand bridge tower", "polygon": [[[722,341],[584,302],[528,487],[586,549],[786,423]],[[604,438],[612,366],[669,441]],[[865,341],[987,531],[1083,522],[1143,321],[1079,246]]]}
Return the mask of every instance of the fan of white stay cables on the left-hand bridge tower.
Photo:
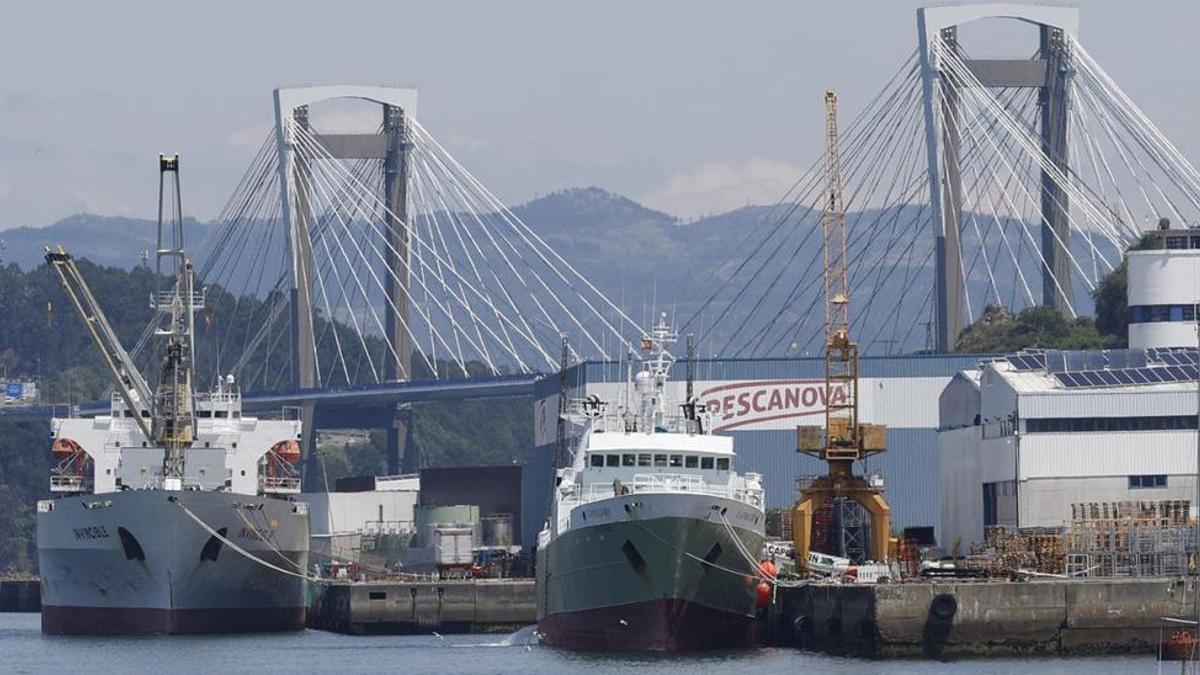
{"label": "fan of white stay cables on the left-hand bridge tower", "polygon": [[[642,334],[546,239],[508,208],[416,119],[408,120],[406,220],[383,198],[374,160],[335,157],[320,132],[287,119],[308,228],[312,341],[320,386],[557,368],[571,357],[616,358]],[[281,223],[274,133],[256,153],[204,241],[197,269],[210,294],[206,348],[244,386],[286,387],[292,252]],[[398,231],[397,231],[398,228]],[[400,250],[395,241],[403,241]],[[389,268],[389,257],[398,258]],[[389,293],[398,288],[398,298]],[[397,317],[404,358],[385,325]],[[202,331],[202,341],[205,335]],[[248,383],[247,383],[248,381]]]}

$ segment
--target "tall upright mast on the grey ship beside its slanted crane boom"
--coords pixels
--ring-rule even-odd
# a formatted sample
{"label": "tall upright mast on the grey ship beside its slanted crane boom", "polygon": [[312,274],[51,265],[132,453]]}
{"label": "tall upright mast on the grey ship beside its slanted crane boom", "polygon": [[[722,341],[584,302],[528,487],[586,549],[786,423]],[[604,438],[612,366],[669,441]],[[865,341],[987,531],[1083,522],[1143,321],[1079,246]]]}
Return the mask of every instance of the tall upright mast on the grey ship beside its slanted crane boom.
{"label": "tall upright mast on the grey ship beside its slanted crane boom", "polygon": [[[168,192],[170,196],[168,197]],[[196,437],[192,368],[196,363],[196,310],[204,306],[196,291],[191,261],[184,252],[184,217],[179,195],[179,155],[158,155],[158,250],[156,269],[174,276],[169,289],[151,298],[158,312],[155,335],[163,339],[158,368],[152,434],[163,448],[163,483],[179,489],[184,478],[185,450]],[[169,232],[164,232],[169,227]]]}

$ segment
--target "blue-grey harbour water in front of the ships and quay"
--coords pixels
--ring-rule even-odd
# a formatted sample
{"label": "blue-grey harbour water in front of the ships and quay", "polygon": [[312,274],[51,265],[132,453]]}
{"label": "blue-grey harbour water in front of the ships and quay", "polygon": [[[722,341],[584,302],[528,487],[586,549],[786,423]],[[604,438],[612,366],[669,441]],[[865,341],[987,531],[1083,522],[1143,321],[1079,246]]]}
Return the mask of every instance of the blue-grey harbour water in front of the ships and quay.
{"label": "blue-grey harbour water in front of the ships and quay", "polygon": [[[0,614],[5,673],[838,673],[1105,675],[1152,673],[1152,656],[858,661],[761,649],[700,655],[572,653],[530,644],[533,629],[506,635],[354,637],[305,631],[266,635],[53,637],[37,614]],[[169,667],[168,667],[169,664]]]}

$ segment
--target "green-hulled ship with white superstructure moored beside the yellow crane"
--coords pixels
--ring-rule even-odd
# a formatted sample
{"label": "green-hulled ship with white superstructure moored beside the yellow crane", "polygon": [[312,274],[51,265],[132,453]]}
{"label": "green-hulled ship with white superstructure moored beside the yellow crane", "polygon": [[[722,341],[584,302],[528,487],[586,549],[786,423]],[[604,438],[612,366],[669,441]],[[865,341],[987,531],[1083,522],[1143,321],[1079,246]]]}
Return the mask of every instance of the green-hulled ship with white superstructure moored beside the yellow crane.
{"label": "green-hulled ship with white superstructure moored beside the yellow crane", "polygon": [[672,405],[673,341],[660,318],[624,400],[592,396],[564,414],[581,429],[538,537],[545,645],[678,652],[755,644],[762,478],[734,471],[733,440],[710,432],[695,399]]}

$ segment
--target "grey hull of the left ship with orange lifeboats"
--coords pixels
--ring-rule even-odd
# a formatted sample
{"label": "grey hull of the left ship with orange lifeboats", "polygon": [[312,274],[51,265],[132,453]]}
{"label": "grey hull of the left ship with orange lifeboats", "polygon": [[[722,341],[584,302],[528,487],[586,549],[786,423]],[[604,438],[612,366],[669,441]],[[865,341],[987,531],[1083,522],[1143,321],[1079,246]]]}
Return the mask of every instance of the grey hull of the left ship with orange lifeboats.
{"label": "grey hull of the left ship with orange lifeboats", "polygon": [[[298,574],[308,562],[308,519],[293,502],[132,490],[52,504],[37,514],[44,633],[304,628],[305,580]],[[197,520],[258,561],[295,574],[240,555]]]}

